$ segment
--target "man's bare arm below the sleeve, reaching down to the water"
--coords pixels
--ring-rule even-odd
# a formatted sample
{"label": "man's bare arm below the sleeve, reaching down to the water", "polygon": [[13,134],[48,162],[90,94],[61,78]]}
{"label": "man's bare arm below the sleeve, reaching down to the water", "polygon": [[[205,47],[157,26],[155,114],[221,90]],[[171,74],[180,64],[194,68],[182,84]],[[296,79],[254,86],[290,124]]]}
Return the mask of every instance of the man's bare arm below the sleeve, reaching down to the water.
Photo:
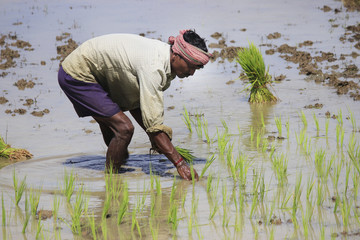
{"label": "man's bare arm below the sleeve, reaching down to the water", "polygon": [[[141,110],[135,109],[130,111],[131,115],[134,117],[136,122],[144,129],[146,130],[141,117]],[[164,132],[156,132],[156,133],[148,133],[150,141],[153,145],[153,147],[156,148],[156,151],[159,153],[164,154],[176,167],[179,175],[186,179],[191,180],[191,170],[189,165],[186,164],[184,160],[179,160],[182,158],[181,155],[176,151],[175,147],[171,143],[168,135]],[[195,178],[198,180],[198,174],[194,169]]]}

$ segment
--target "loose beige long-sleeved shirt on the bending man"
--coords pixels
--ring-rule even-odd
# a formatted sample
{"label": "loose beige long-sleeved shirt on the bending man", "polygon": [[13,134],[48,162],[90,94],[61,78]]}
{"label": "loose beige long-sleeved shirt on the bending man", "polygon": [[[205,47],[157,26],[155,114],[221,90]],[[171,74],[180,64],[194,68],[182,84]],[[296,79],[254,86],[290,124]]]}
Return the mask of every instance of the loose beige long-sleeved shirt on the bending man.
{"label": "loose beige long-sleeved shirt on the bending man", "polygon": [[74,79],[99,83],[123,111],[140,108],[147,132],[165,131],[171,138],[171,129],[163,125],[163,91],[174,79],[167,43],[133,34],[104,35],[81,44],[62,67]]}

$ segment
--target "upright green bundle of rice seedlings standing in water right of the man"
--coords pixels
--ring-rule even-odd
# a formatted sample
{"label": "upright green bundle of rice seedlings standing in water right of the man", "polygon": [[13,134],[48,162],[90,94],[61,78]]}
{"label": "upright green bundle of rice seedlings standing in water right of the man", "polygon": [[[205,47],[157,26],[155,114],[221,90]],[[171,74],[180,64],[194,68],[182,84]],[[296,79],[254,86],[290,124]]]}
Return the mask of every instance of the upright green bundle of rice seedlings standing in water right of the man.
{"label": "upright green bundle of rice seedlings standing in water right of the man", "polygon": [[271,83],[269,68],[265,68],[260,50],[249,43],[248,48],[238,50],[236,61],[241,65],[251,84],[250,103],[276,102],[277,98],[267,88]]}

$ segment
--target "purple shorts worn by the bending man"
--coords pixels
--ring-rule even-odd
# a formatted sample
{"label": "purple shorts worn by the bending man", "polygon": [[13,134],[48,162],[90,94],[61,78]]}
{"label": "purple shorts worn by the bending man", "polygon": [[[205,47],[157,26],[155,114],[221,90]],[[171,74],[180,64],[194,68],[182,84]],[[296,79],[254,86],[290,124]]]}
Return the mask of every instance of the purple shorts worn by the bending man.
{"label": "purple shorts worn by the bending man", "polygon": [[79,117],[111,117],[121,111],[100,84],[73,79],[61,66],[58,80],[61,89],[74,105]]}

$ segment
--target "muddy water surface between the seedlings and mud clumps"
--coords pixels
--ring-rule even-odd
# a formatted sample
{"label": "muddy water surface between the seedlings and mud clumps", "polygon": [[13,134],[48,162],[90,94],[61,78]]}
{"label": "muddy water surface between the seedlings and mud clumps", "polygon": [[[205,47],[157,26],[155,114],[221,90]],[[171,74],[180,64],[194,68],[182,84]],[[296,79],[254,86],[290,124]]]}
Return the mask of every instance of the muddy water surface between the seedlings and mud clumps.
{"label": "muddy water surface between the seedlings and mud clumps", "polygon": [[[321,10],[324,5],[332,10]],[[311,40],[313,45],[300,48],[312,55],[320,55],[321,52],[331,52],[339,59],[341,54],[349,55],[352,52],[360,54],[355,47],[355,42],[340,41],[344,36],[346,27],[359,23],[358,12],[347,12],[337,1],[133,1],[130,3],[119,1],[105,1],[100,4],[96,1],[78,3],[76,1],[2,1],[0,4],[0,29],[3,35],[16,35],[17,39],[28,41],[32,51],[17,49],[19,58],[15,58],[16,66],[1,70],[7,75],[0,78],[1,93],[8,102],[0,105],[0,135],[3,136],[13,147],[28,149],[33,155],[32,160],[13,164],[0,170],[0,189],[4,195],[4,206],[8,224],[2,228],[2,236],[9,239],[22,238],[21,229],[25,209],[24,198],[20,201],[20,208],[15,208],[13,203],[14,189],[12,183],[13,171],[21,180],[26,177],[27,186],[42,189],[39,209],[52,210],[54,196],[60,197],[61,207],[58,220],[54,224],[53,219],[43,220],[43,234],[45,238],[73,238],[75,235],[69,228],[71,216],[66,207],[66,200],[62,196],[61,189],[64,182],[65,170],[67,173],[73,170],[76,176],[76,190],[84,186],[89,199],[89,213],[94,212],[98,225],[101,224],[101,214],[105,200],[105,177],[103,172],[104,154],[106,146],[98,126],[91,122],[90,118],[78,119],[71,104],[66,99],[57,85],[57,46],[66,44],[69,38],[57,40],[57,36],[70,33],[70,37],[81,43],[88,38],[113,32],[128,32],[145,34],[150,38],[159,38],[166,41],[169,35],[177,34],[179,29],[195,28],[205,37],[208,43],[218,43],[218,39],[212,38],[215,32],[222,34],[228,46],[247,46],[248,41],[262,46],[266,50],[282,44],[299,46],[304,41]],[[340,10],[339,12],[335,9]],[[281,37],[268,39],[269,34],[279,32]],[[14,40],[6,38],[8,43]],[[220,51],[221,49],[209,49]],[[156,195],[156,207],[159,209],[154,224],[159,225],[159,239],[167,239],[175,236],[178,239],[224,239],[224,238],[270,238],[273,232],[278,238],[304,238],[302,227],[301,210],[297,212],[297,220],[300,227],[291,223],[291,210],[284,210],[277,206],[274,216],[281,218],[282,224],[265,224],[263,215],[270,215],[271,203],[276,195],[291,195],[297,176],[302,173],[302,208],[306,209],[307,183],[309,177],[314,175],[314,155],[319,149],[325,149],[327,162],[331,156],[336,156],[335,162],[345,159],[350,162],[347,149],[351,136],[359,142],[358,127],[353,132],[350,121],[351,112],[353,118],[360,124],[359,102],[354,101],[349,94],[338,95],[336,88],[326,86],[324,82],[316,83],[306,75],[300,75],[298,65],[287,62],[280,57],[279,53],[273,55],[264,54],[265,63],[269,65],[270,74],[285,75],[285,79],[272,85],[275,94],[281,100],[275,105],[254,106],[250,105],[248,92],[243,91],[246,83],[239,80],[241,69],[235,62],[217,59],[209,63],[204,69],[189,79],[175,79],[171,88],[165,92],[165,124],[171,126],[174,131],[174,145],[189,148],[199,158],[195,164],[198,172],[204,167],[205,159],[215,154],[217,160],[213,163],[205,176],[211,174],[214,177],[212,192],[207,193],[207,180],[196,183],[180,181],[173,183],[173,173],[176,170],[169,162],[164,161],[163,156],[149,156],[149,141],[140,128],[136,125],[136,132],[129,151],[131,154],[128,164],[119,176],[129,186],[129,211],[124,223],[120,226],[116,223],[118,207],[116,204],[111,208],[109,217],[106,219],[107,234],[109,239],[117,239],[120,235],[123,239],[137,239],[139,233],[136,227],[132,229],[132,212],[138,202],[144,196],[144,210],[137,213],[142,238],[151,238],[148,218],[151,209],[151,177],[149,175],[149,163],[154,166],[156,176],[160,177],[162,194]],[[327,66],[339,65],[337,72],[343,72],[348,65],[359,66],[359,57],[345,57],[344,60],[335,62],[319,62],[319,68],[324,73],[330,73]],[[42,62],[43,61],[43,62]],[[19,90],[14,83],[20,79],[33,81],[32,88]],[[359,83],[359,78],[346,79]],[[31,105],[23,105],[26,99],[33,99]],[[305,108],[322,104],[321,108]],[[183,107],[192,114],[203,114],[208,122],[209,136],[213,139],[211,144],[204,142],[205,137],[198,137],[195,128],[189,133],[182,121]],[[25,109],[25,114],[15,112],[16,109]],[[34,116],[34,111],[46,113],[42,117]],[[12,113],[5,113],[10,110]],[[306,116],[308,126],[304,128],[301,120],[301,112]],[[326,113],[330,113],[327,118]],[[320,131],[316,131],[313,115],[319,120]],[[336,128],[339,120],[331,118],[333,115],[342,115],[344,129],[343,147],[338,145]],[[281,140],[274,117],[281,116],[282,136]],[[269,151],[260,151],[256,144],[257,133],[265,123],[265,133],[261,135],[261,141],[268,139],[269,147],[274,146],[275,154],[284,154],[288,158],[287,179],[285,187],[279,187],[272,170]],[[328,134],[326,135],[326,122],[328,121]],[[248,182],[245,188],[245,205],[242,214],[241,230],[236,229],[236,204],[233,198],[239,201],[239,183],[232,180],[231,173],[226,161],[219,156],[218,135],[225,131],[223,122],[226,123],[229,133],[229,143],[233,144],[233,156],[244,154],[251,162],[248,170]],[[286,123],[289,123],[289,135],[286,131]],[[306,129],[306,137],[311,139],[311,151],[306,153],[299,144],[301,130]],[[254,131],[252,135],[251,132]],[[327,136],[327,137],[326,137]],[[274,138],[274,139],[273,139]],[[261,142],[262,146],[263,142]],[[228,150],[229,151],[229,150]],[[343,197],[345,189],[346,164],[343,165],[339,180],[339,196]],[[350,163],[349,163],[350,164]],[[350,165],[349,165],[350,166]],[[334,175],[334,169],[331,173]],[[254,214],[251,213],[253,204],[252,187],[254,176],[262,174],[266,182],[265,202],[259,206],[265,206],[266,214],[262,214],[262,208],[257,207]],[[351,170],[351,175],[356,171]],[[216,181],[219,179],[217,191]],[[179,207],[178,217],[181,218],[176,231],[171,230],[171,224],[167,222],[170,208],[169,199],[172,186],[177,187],[175,202]],[[347,236],[355,238],[359,232],[359,225],[351,212],[350,230],[347,235],[344,232],[341,221],[341,213],[335,214],[334,202],[331,200],[335,195],[334,186],[329,177],[324,193],[324,203],[316,208],[312,219],[312,228],[309,230],[310,238],[319,238],[321,229],[324,228],[326,238],[330,236]],[[349,181],[353,186],[353,180]],[[314,189],[318,185],[315,184]],[[349,199],[353,196],[355,187],[348,190]],[[226,192],[226,194],[225,194]],[[315,192],[315,190],[314,190]],[[214,197],[215,196],[215,197]],[[225,196],[225,197],[224,197]],[[316,199],[313,193],[313,199]],[[224,197],[224,198],[223,198]],[[73,197],[73,200],[75,197]],[[281,201],[281,200],[279,200]],[[209,220],[214,202],[218,202],[219,210],[213,220]],[[228,209],[223,202],[227,203]],[[287,207],[291,209],[293,199],[290,198]],[[358,206],[359,199],[356,197],[351,202],[351,207]],[[195,215],[192,215],[192,207],[196,205]],[[224,213],[224,209],[228,214]],[[224,218],[224,216],[228,216]],[[273,216],[267,216],[268,219]],[[60,219],[59,218],[59,219]],[[228,219],[228,224],[224,224]],[[192,220],[192,231],[189,230],[188,222]],[[226,223],[226,221],[225,221]],[[33,238],[36,235],[37,220],[31,218],[29,227],[24,235]],[[54,230],[54,226],[58,226]],[[83,238],[91,238],[87,228],[84,228]],[[101,236],[104,231],[98,229]],[[123,235],[123,233],[128,233]],[[119,234],[121,233],[121,234]],[[75,236],[76,237],[76,236]],[[79,237],[80,238],[80,237]]]}

